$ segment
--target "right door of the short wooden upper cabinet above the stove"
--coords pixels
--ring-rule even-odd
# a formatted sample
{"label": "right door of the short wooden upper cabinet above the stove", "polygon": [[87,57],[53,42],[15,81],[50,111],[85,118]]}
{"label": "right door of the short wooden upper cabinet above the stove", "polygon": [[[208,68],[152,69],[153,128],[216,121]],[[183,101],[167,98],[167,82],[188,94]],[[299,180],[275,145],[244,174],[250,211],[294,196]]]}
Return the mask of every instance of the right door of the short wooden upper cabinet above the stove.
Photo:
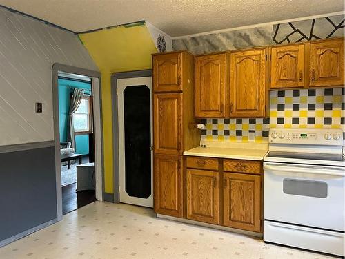
{"label": "right door of the short wooden upper cabinet above the stove", "polygon": [[311,42],[310,86],[344,86],[344,39]]}

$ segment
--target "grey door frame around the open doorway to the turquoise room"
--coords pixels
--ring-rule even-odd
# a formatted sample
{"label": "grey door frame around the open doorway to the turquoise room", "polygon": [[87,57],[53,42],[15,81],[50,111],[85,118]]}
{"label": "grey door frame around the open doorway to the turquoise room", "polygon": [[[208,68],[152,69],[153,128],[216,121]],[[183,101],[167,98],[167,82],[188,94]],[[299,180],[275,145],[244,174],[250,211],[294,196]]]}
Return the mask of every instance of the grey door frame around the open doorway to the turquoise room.
{"label": "grey door frame around the open doorway to the turquoise room", "polygon": [[[96,178],[96,199],[103,201],[104,197],[104,156],[103,156],[103,116],[101,100],[101,73],[95,70],[77,68],[64,64],[55,63],[52,66],[52,102],[54,120],[54,141],[55,141],[55,174],[57,191],[57,220],[62,220],[62,189],[61,189],[61,158],[60,158],[60,133],[59,133],[59,83],[58,73],[66,72],[91,77],[93,95],[93,119],[95,133],[95,178]],[[98,125],[97,125],[98,124]],[[97,141],[98,140],[98,141]]]}

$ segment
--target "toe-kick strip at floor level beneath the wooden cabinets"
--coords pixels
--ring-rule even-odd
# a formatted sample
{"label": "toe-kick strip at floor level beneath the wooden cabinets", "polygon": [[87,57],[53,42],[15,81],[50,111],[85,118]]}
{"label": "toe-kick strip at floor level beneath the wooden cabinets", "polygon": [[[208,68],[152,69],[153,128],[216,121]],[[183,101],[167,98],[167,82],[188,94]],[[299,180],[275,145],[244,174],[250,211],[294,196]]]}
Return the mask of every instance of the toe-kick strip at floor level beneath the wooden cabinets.
{"label": "toe-kick strip at floor level beneath the wooden cabinets", "polygon": [[163,218],[166,220],[174,220],[174,221],[183,222],[186,224],[194,224],[194,225],[201,226],[201,227],[210,227],[211,229],[219,229],[219,230],[224,230],[224,231],[228,231],[228,232],[239,233],[239,234],[246,235],[246,236],[256,236],[256,237],[262,238],[262,233],[246,231],[246,230],[242,230],[242,229],[234,229],[232,227],[224,227],[224,226],[219,226],[219,225],[215,225],[215,224],[199,222],[199,221],[195,221],[195,220],[188,220],[186,218],[175,218],[172,216],[161,215],[161,214],[157,214],[157,218]]}

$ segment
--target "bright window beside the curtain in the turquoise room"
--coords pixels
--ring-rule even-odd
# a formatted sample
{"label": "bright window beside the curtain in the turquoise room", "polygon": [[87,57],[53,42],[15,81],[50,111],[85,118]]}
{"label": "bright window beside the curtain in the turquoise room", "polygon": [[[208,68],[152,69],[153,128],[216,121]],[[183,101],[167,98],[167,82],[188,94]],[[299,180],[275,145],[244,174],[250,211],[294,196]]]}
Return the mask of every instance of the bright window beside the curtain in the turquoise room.
{"label": "bright window beside the curtain in the turquoise room", "polygon": [[92,98],[84,96],[81,103],[73,113],[73,123],[75,126],[75,133],[90,133],[92,132]]}

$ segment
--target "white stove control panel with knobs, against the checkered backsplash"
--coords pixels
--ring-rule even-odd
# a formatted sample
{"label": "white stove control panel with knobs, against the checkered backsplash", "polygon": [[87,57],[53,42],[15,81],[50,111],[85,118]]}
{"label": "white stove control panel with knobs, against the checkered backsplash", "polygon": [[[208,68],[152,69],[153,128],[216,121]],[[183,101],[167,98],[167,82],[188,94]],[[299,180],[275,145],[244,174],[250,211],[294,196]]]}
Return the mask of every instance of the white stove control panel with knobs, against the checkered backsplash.
{"label": "white stove control panel with knobs, against the checkered backsplash", "polygon": [[341,146],[343,131],[340,129],[293,129],[271,128],[268,135],[270,143],[277,144],[314,144]]}

